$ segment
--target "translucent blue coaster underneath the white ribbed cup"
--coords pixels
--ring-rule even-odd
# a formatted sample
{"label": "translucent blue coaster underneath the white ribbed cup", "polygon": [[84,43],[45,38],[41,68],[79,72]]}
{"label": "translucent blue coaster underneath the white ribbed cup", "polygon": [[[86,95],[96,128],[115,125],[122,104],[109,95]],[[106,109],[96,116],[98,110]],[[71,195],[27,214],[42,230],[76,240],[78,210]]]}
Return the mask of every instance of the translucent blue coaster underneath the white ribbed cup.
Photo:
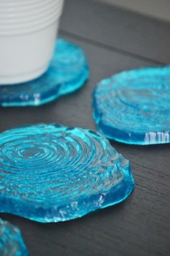
{"label": "translucent blue coaster underneath the white ribbed cup", "polygon": [[1,106],[38,106],[81,88],[89,78],[84,52],[59,38],[50,67],[36,80],[0,85]]}

